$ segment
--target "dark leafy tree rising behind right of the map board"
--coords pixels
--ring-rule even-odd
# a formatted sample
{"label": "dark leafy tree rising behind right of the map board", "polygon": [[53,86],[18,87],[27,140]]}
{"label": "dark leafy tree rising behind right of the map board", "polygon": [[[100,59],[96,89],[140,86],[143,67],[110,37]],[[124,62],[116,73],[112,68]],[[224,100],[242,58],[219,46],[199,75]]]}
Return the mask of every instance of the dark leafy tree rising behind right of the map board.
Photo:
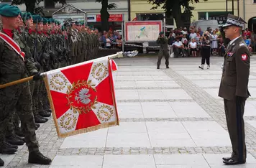
{"label": "dark leafy tree rising behind right of the map board", "polygon": [[[207,1],[207,0],[201,0]],[[189,14],[192,16],[192,6],[189,6],[190,3],[198,3],[200,0],[148,0],[148,3],[153,4],[152,9],[157,9],[162,6],[162,9],[165,9],[166,16],[173,15],[177,27],[183,27],[182,14]],[[184,12],[181,12],[181,6],[184,8]]]}

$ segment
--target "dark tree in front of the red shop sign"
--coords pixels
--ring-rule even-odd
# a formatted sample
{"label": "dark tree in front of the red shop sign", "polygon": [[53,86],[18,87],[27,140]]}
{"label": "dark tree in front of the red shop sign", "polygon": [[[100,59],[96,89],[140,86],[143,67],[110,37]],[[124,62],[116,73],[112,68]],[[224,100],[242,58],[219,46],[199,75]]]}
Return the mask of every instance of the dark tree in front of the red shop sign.
{"label": "dark tree in front of the red shop sign", "polygon": [[116,8],[116,4],[110,3],[109,0],[96,0],[101,3],[101,30],[109,31],[109,11],[108,9]]}

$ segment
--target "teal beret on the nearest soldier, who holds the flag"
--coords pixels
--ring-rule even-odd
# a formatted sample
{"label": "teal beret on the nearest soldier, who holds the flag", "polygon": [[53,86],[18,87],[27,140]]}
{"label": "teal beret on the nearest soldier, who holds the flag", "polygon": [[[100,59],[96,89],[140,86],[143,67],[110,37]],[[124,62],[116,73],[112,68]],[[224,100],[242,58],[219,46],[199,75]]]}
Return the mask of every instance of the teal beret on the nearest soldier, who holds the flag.
{"label": "teal beret on the nearest soldier, who holds the flag", "polygon": [[17,6],[3,4],[0,6],[0,15],[3,17],[17,17],[20,14],[20,10]]}

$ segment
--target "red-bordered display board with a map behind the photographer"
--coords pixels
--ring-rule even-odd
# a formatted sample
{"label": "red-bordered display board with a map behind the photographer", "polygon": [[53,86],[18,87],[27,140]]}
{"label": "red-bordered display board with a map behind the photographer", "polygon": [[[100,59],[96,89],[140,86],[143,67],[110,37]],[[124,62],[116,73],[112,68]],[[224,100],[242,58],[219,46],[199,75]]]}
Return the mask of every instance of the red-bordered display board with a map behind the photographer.
{"label": "red-bordered display board with a map behind the photographer", "polygon": [[162,32],[162,25],[162,21],[125,22],[125,42],[155,42]]}

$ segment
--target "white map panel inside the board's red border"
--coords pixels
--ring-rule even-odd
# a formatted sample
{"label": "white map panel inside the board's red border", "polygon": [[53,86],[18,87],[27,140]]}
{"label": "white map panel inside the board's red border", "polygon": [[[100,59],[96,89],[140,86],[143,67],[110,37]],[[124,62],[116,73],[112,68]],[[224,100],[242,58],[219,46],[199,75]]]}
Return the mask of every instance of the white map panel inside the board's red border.
{"label": "white map panel inside the board's red border", "polygon": [[127,25],[127,41],[155,41],[160,31],[159,24]]}

